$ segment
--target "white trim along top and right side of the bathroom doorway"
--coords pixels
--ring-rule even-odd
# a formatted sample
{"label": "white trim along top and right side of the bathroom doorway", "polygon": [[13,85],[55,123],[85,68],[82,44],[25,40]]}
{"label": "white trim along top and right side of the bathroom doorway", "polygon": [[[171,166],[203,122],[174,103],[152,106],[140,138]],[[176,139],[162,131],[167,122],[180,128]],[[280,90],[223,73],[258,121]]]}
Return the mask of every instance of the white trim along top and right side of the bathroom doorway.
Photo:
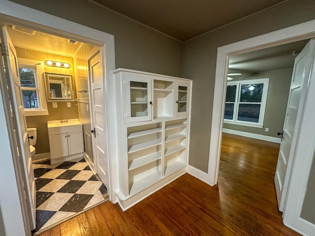
{"label": "white trim along top and right side of the bathroom doorway", "polygon": [[[108,195],[111,202],[117,202],[117,196],[114,194],[115,186],[118,184],[118,178],[113,176],[117,173],[117,146],[116,146],[116,114],[115,114],[115,77],[111,73],[115,70],[115,47],[114,47],[114,35],[105,33],[96,29],[92,29],[80,24],[56,17],[8,0],[0,0],[0,22],[17,24],[21,27],[28,27],[42,32],[55,34],[61,37],[72,38],[83,43],[93,44],[95,46],[101,47],[102,60],[105,69],[104,73],[104,93],[106,110],[105,115],[108,117],[108,122],[106,122],[106,127],[108,130],[108,175],[109,175],[109,185]],[[4,112],[4,111],[3,111]],[[0,114],[2,110],[0,110]],[[7,133],[7,127],[0,127],[1,133]],[[109,140],[112,140],[111,142]],[[2,147],[1,148],[5,148]],[[12,155],[11,155],[12,156]],[[12,157],[13,158],[13,157]],[[18,172],[18,167],[13,163],[15,172]],[[2,173],[0,174],[0,178]],[[3,176],[3,179],[6,177]],[[16,179],[15,179],[16,180]],[[12,180],[13,181],[13,180]],[[22,186],[22,183],[17,179],[12,183]],[[15,202],[17,205],[23,205],[23,196],[20,196],[20,201]],[[3,212],[4,213],[4,212]],[[25,216],[24,216],[25,218]]]}

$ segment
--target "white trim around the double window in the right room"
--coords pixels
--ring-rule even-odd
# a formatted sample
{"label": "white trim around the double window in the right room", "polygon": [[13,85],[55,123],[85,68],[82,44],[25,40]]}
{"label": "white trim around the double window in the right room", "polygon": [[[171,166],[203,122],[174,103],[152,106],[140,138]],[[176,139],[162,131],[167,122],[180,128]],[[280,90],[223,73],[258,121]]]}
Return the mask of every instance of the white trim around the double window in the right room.
{"label": "white trim around the double window in the right room", "polygon": [[[263,83],[264,84],[261,102],[260,102],[260,111],[259,111],[258,122],[237,120],[237,114],[238,114],[238,108],[239,108],[239,94],[240,94],[241,85],[257,84],[257,83]],[[231,86],[231,85],[237,86],[236,87],[236,94],[235,94],[235,102],[234,102],[233,120],[223,119],[223,122],[227,123],[227,124],[236,124],[236,125],[250,126],[250,127],[255,127],[255,128],[262,128],[264,126],[263,123],[264,123],[264,118],[265,118],[265,109],[266,109],[267,94],[268,94],[268,87],[269,87],[269,78],[253,79],[253,80],[239,80],[239,81],[227,82],[227,86]]]}

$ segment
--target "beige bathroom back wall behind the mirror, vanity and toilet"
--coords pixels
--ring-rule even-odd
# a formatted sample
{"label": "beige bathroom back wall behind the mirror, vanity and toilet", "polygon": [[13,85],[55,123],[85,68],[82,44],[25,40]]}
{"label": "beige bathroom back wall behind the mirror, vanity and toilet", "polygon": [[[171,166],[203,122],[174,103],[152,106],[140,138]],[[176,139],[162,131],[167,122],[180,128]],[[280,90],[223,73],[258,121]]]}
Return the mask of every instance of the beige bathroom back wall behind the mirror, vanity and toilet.
{"label": "beige bathroom back wall behind the mirror, vanity and toilet", "polygon": [[[60,55],[55,55],[46,52],[39,52],[31,49],[15,47],[17,57],[23,59],[32,59],[45,61],[50,60],[59,60],[63,62],[70,63],[73,65],[73,59],[71,57],[65,57]],[[71,74],[74,76],[74,68],[71,66],[69,69],[49,67],[44,65],[45,72],[52,73],[62,73],[62,74]],[[73,77],[74,78],[74,77]],[[45,92],[45,91],[44,91]],[[58,108],[53,108],[51,102],[47,102],[48,114],[47,116],[32,116],[26,117],[26,123],[28,127],[37,128],[37,143],[35,145],[36,154],[50,152],[49,149],[49,139],[48,139],[48,130],[47,130],[47,120],[56,120],[56,119],[73,119],[78,118],[78,110],[75,102],[71,102],[71,107],[67,107],[66,102],[57,102]]]}

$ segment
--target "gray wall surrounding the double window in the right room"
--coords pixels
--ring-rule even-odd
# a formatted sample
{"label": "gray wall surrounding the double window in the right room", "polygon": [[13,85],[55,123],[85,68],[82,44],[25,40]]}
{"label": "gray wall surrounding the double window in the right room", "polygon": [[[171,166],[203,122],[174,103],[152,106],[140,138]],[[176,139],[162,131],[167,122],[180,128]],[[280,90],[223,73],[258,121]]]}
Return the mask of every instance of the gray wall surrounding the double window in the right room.
{"label": "gray wall surrounding the double window in the right room", "polygon": [[[264,127],[254,128],[224,123],[223,128],[279,138],[277,132],[281,132],[284,126],[285,109],[291,84],[292,70],[293,69],[270,70],[238,76],[240,77],[239,80],[269,78]],[[235,80],[237,79],[233,81]],[[266,132],[265,128],[269,128],[269,131]]]}

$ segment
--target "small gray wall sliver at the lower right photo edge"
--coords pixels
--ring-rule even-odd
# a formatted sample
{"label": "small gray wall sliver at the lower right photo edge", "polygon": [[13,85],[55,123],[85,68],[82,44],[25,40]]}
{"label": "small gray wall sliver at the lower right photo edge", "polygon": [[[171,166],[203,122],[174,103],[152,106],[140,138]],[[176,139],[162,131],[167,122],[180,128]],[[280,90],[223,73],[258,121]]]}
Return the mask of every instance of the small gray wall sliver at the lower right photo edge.
{"label": "small gray wall sliver at the lower right photo edge", "polygon": [[301,217],[315,224],[315,154],[313,155],[313,164],[307,184],[307,190],[301,210]]}

